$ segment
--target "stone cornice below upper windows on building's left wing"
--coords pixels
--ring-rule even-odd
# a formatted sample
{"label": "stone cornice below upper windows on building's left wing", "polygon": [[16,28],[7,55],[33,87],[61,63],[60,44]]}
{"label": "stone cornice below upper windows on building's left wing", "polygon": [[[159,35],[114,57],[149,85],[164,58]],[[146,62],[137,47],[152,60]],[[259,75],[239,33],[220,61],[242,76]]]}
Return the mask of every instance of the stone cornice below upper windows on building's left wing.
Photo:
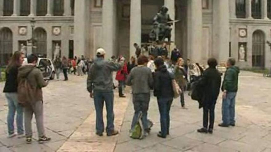
{"label": "stone cornice below upper windows on building's left wing", "polygon": [[51,23],[71,23],[74,22],[73,16],[1,16],[0,23],[29,23],[34,18],[36,22],[51,22]]}

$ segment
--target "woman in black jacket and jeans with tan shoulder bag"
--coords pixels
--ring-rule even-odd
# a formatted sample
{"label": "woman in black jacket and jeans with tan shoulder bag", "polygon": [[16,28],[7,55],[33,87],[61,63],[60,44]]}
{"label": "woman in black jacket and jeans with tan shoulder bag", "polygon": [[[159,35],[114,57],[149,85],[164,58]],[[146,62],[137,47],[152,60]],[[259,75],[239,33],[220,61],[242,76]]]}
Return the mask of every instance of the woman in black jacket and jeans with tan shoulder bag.
{"label": "woman in black jacket and jeans with tan shoulder bag", "polygon": [[162,58],[154,61],[157,71],[154,74],[154,95],[157,97],[160,112],[161,131],[158,137],[166,138],[170,128],[170,107],[174,97],[172,80],[174,76],[170,74],[164,65]]}

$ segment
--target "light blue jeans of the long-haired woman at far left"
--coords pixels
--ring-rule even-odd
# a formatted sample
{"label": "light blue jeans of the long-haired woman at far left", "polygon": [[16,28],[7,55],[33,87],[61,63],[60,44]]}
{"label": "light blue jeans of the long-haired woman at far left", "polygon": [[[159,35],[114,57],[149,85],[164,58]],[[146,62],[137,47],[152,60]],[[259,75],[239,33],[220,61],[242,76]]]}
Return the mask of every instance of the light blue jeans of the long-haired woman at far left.
{"label": "light blue jeans of the long-haired woman at far left", "polygon": [[18,104],[17,93],[5,93],[8,103],[7,126],[8,134],[14,134],[14,116],[16,115],[17,133],[24,134],[23,130],[23,107]]}

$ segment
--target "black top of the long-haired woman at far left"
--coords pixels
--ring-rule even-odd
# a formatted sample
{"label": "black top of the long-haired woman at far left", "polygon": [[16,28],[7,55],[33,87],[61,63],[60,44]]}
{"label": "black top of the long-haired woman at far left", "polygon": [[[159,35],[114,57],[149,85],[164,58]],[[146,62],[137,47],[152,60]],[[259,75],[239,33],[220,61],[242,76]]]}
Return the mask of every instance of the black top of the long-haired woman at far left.
{"label": "black top of the long-haired woman at far left", "polygon": [[5,93],[13,93],[17,92],[18,88],[18,68],[19,66],[13,66],[9,69],[9,71],[6,71],[6,83],[4,87]]}

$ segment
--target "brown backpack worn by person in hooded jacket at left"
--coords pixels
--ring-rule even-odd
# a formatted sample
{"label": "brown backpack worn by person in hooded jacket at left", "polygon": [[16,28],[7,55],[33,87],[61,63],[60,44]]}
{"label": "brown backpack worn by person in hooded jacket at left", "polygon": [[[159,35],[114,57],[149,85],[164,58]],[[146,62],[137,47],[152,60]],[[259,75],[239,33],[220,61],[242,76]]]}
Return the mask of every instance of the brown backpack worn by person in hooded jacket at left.
{"label": "brown backpack worn by person in hooded jacket at left", "polygon": [[33,89],[27,80],[27,77],[32,70],[27,73],[26,77],[21,78],[18,82],[18,103],[21,105],[26,105],[26,103],[29,103],[33,99],[30,94]]}

